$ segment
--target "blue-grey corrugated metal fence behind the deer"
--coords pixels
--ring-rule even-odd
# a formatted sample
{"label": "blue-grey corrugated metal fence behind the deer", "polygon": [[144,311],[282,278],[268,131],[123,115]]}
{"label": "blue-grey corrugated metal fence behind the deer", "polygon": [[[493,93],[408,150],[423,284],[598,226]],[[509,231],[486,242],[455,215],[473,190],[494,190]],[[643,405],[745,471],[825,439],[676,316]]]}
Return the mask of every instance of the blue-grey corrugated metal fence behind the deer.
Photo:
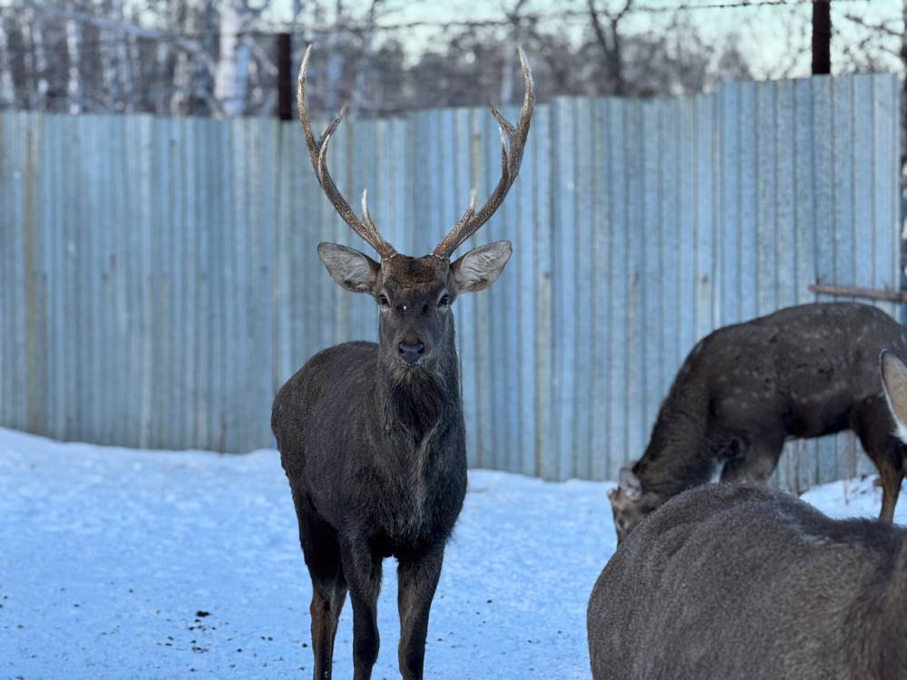
{"label": "blue-grey corrugated metal fence behind the deer", "polygon": [[[877,75],[539,106],[519,180],[468,244],[509,238],[515,255],[455,305],[471,463],[614,478],[697,338],[814,300],[815,282],[899,287],[897,102]],[[497,139],[478,109],[345,122],[330,165],[421,255],[473,185],[491,190]],[[334,285],[322,240],[366,248],[297,124],[0,114],[0,424],[270,445],[278,386],[375,337],[374,302]],[[802,486],[857,455],[844,437],[783,460]]]}

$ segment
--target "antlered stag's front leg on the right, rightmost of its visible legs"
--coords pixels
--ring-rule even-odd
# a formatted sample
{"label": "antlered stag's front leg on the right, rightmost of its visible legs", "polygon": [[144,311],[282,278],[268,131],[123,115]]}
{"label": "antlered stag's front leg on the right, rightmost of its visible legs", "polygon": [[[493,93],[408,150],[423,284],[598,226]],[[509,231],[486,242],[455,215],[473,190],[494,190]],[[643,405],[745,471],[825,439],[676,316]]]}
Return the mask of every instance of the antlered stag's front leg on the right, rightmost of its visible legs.
{"label": "antlered stag's front leg on the right, rightmost of its visible legs", "polygon": [[404,680],[421,680],[425,660],[425,637],[434,590],[441,577],[444,546],[417,556],[400,558],[397,567],[397,606],[400,609],[400,646],[397,656]]}

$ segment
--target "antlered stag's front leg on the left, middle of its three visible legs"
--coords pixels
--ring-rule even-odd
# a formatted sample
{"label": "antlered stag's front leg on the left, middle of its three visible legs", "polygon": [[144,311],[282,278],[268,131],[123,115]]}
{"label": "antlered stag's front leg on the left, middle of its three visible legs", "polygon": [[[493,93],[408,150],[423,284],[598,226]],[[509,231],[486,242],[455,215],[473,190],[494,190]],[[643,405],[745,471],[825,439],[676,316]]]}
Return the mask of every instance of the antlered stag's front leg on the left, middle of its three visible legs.
{"label": "antlered stag's front leg on the left, middle of its three visible legs", "polygon": [[381,558],[365,541],[341,543],[344,575],[353,606],[353,680],[369,680],[378,658],[378,593],[381,591]]}

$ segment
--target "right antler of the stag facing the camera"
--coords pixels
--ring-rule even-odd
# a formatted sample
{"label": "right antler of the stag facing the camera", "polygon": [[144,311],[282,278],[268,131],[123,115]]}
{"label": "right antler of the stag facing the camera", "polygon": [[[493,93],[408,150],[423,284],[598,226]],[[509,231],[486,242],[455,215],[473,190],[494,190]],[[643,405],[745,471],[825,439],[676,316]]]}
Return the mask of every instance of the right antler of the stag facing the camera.
{"label": "right antler of the stag facing the camera", "polygon": [[514,128],[497,109],[492,107],[492,115],[501,125],[499,128],[501,133],[501,180],[498,180],[498,185],[494,188],[488,202],[478,212],[475,211],[475,192],[473,191],[473,199],[470,201],[469,208],[463,213],[463,217],[432,251],[432,254],[437,257],[450,257],[464,240],[473,236],[492,217],[494,211],[501,206],[513,180],[516,180],[516,175],[520,171],[522,151],[526,146],[529,124],[532,121],[532,109],[535,107],[535,91],[532,87],[532,72],[529,70],[526,55],[522,53],[522,49],[519,52],[523,86],[526,93],[522,99],[522,112],[520,112],[517,127]]}

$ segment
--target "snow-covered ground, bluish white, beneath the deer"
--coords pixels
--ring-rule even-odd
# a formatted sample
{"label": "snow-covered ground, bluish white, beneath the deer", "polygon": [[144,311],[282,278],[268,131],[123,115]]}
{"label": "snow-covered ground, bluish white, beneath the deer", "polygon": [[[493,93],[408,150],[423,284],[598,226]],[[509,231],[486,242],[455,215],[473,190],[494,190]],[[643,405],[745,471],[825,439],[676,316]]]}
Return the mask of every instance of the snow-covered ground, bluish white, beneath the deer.
{"label": "snow-covered ground, bluish white, beneath the deer", "polygon": [[[585,605],[615,547],[610,486],[470,472],[426,677],[590,676]],[[881,491],[836,482],[805,499],[875,516]],[[395,592],[387,560],[375,678],[399,677]],[[0,678],[305,677],[309,597],[277,452],[132,451],[0,429]],[[347,603],[336,678],[352,675],[351,617]]]}

